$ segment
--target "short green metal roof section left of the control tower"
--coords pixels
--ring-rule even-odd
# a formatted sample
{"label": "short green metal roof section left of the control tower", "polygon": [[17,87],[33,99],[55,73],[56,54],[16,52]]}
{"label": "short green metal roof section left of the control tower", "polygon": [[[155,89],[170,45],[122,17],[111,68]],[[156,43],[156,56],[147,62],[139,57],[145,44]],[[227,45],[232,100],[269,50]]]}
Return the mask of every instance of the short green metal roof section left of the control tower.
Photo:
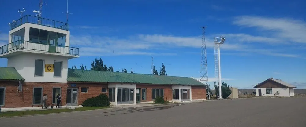
{"label": "short green metal roof section left of the control tower", "polygon": [[0,80],[24,80],[14,67],[0,67]]}

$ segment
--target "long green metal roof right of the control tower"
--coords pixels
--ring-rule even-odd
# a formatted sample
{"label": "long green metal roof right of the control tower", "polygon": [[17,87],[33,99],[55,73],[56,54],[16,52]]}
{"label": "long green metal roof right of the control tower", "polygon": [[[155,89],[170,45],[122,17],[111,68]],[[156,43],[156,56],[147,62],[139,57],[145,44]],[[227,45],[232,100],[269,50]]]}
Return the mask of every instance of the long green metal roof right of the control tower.
{"label": "long green metal roof right of the control tower", "polygon": [[67,81],[70,82],[122,82],[142,84],[165,84],[165,85],[202,85],[196,79],[189,77],[164,76],[153,74],[136,74],[110,71],[93,71],[68,69]]}

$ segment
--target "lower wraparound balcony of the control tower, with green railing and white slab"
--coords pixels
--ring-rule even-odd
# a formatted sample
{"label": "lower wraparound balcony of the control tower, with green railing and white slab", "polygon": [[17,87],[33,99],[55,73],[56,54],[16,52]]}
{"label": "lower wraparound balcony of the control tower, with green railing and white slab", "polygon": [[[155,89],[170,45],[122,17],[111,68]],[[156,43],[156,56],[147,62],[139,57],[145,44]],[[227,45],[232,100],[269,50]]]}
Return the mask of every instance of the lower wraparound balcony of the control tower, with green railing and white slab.
{"label": "lower wraparound balcony of the control tower, with green railing and white slab", "polygon": [[0,47],[0,57],[7,58],[12,54],[17,53],[18,51],[20,51],[20,53],[28,52],[61,55],[70,58],[79,57],[79,48],[39,42],[29,42],[24,40],[18,40]]}

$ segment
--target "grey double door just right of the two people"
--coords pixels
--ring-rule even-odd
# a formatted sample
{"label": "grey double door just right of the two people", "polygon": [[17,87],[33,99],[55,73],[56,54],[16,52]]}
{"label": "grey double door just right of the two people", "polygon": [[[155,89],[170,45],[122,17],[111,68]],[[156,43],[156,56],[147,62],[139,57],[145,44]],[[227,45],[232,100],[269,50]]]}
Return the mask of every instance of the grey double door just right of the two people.
{"label": "grey double door just right of the two people", "polygon": [[67,106],[77,106],[77,95],[78,95],[78,88],[67,88],[67,98],[66,98],[66,105]]}

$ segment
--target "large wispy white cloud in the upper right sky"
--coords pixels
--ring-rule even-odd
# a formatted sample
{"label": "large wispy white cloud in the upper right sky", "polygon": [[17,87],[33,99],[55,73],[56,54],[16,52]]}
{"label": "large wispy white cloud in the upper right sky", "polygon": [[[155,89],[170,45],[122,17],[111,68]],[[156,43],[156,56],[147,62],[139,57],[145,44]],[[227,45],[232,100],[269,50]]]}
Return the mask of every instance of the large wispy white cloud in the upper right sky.
{"label": "large wispy white cloud in the upper right sky", "polygon": [[306,23],[304,21],[289,18],[238,16],[235,17],[233,24],[268,31],[275,40],[306,43]]}

